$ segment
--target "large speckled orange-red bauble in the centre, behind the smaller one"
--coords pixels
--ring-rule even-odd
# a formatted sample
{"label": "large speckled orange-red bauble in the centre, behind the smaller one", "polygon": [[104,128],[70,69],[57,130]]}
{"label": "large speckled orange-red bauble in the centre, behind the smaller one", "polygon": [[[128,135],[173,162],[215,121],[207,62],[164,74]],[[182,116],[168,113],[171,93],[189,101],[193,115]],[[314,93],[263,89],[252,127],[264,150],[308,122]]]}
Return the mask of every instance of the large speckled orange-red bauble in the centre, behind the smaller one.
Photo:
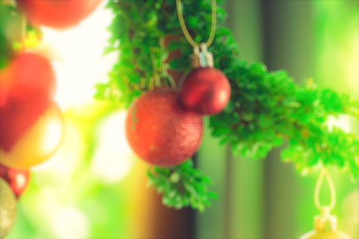
{"label": "large speckled orange-red bauble in the centre, behind the smaller one", "polygon": [[152,165],[181,164],[200,147],[202,132],[202,117],[183,110],[178,93],[171,88],[147,92],[127,114],[127,140],[133,151]]}

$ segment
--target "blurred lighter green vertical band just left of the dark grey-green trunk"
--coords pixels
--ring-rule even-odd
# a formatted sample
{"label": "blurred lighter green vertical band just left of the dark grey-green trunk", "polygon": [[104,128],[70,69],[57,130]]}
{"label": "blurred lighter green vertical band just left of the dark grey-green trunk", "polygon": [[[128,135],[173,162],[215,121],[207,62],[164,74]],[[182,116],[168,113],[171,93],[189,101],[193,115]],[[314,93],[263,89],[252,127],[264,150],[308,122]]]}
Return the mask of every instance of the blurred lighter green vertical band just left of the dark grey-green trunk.
{"label": "blurred lighter green vertical band just left of the dark grey-green trunk", "polygon": [[[228,27],[241,59],[263,60],[260,1],[228,1]],[[263,238],[263,160],[235,157],[228,149],[225,238]]]}

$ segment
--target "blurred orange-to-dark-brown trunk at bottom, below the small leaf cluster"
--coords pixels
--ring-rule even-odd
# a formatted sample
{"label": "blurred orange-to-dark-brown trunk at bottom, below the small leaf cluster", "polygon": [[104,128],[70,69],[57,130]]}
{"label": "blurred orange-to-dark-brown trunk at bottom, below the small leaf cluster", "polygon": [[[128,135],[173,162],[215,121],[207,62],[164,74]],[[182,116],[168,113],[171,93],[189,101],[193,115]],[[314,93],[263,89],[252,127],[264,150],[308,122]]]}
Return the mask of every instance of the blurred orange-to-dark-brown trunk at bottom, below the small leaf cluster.
{"label": "blurred orange-to-dark-brown trunk at bottom, below the small leaf cluster", "polygon": [[[138,163],[129,181],[133,185],[131,235],[138,239],[194,238],[194,212],[162,205],[161,195],[146,187],[148,165]],[[138,203],[136,203],[138,202]]]}

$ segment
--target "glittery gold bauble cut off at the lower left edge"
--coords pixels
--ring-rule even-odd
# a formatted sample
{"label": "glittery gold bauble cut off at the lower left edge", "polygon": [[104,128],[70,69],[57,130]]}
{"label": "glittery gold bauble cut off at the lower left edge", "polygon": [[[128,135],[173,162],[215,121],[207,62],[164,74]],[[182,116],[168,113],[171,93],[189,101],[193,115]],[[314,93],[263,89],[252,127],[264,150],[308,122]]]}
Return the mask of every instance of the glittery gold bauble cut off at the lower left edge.
{"label": "glittery gold bauble cut off at the lower left edge", "polygon": [[5,238],[16,219],[16,197],[9,184],[0,178],[0,238]]}

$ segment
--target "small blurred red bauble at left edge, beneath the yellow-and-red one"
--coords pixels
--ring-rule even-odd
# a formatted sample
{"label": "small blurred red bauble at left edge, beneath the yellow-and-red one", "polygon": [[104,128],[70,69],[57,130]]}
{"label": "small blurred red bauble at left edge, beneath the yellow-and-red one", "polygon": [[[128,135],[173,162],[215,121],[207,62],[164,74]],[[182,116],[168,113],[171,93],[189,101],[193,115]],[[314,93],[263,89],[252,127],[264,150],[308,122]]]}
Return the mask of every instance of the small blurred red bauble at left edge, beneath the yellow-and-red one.
{"label": "small blurred red bauble at left edge, beneath the yellow-and-red one", "polygon": [[4,165],[0,165],[0,178],[8,182],[16,197],[20,197],[27,187],[27,184],[29,184],[30,171],[10,169]]}

